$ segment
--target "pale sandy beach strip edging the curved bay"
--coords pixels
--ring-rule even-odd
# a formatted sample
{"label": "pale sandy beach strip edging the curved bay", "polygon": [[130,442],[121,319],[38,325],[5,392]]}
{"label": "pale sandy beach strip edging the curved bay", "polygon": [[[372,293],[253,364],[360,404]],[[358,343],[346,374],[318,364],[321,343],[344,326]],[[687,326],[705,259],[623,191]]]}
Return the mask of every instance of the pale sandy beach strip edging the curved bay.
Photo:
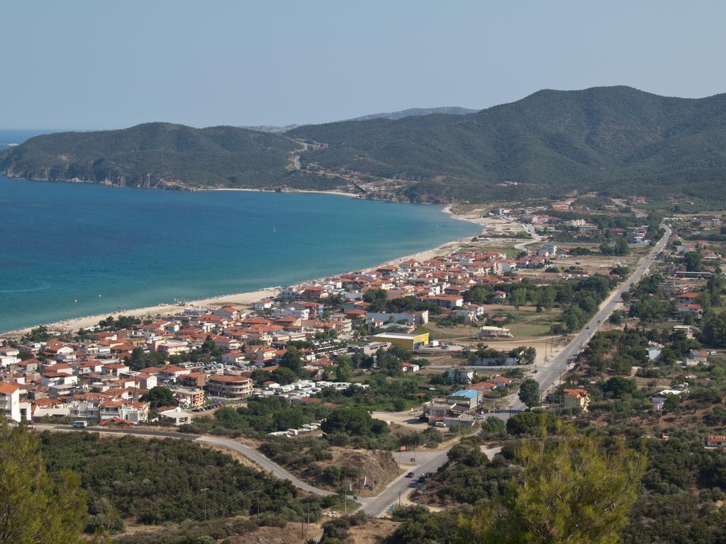
{"label": "pale sandy beach strip edging the curved bay", "polygon": [[[210,189],[210,190],[232,190],[232,191],[257,191],[258,189]],[[325,192],[325,194],[330,194],[330,191],[308,191],[308,192]],[[338,196],[352,196],[348,193],[338,193]],[[457,219],[458,221],[468,221],[469,223],[474,223],[477,226],[481,227],[481,231],[485,231],[487,228],[494,227],[496,225],[502,225],[506,224],[505,221],[489,217],[489,216],[482,216],[481,213],[477,213],[477,210],[474,210],[473,212],[468,213],[456,213],[455,210],[452,209],[453,205],[446,205],[443,207],[442,211],[444,213],[450,215],[452,218]],[[370,271],[375,270],[375,268],[379,268],[381,266],[386,265],[393,265],[396,263],[402,263],[405,260],[409,259],[415,259],[419,261],[424,261],[431,259],[433,257],[436,257],[437,255],[441,255],[442,252],[453,252],[454,250],[457,250],[459,247],[462,246],[462,244],[470,242],[470,238],[460,238],[460,239],[453,239],[449,240],[448,242],[444,242],[443,244],[440,244],[439,246],[433,247],[428,250],[421,250],[419,252],[412,253],[410,255],[403,255],[401,257],[394,257],[393,259],[387,260],[384,263],[378,263],[377,265],[372,265],[368,268],[363,268],[364,271]],[[334,275],[338,275],[341,273],[346,273],[350,271],[341,271]],[[315,281],[324,281],[327,278],[330,278],[331,276],[324,276],[321,278],[314,278],[314,279],[308,279],[306,281],[301,281],[301,284],[306,284],[310,282]],[[216,295],[213,297],[206,297],[203,299],[198,300],[191,300],[186,302],[184,305],[176,305],[176,304],[158,304],[158,305],[152,305],[152,306],[145,306],[142,308],[129,308],[127,310],[121,310],[121,311],[111,311],[107,313],[98,313],[93,314],[90,316],[81,316],[77,318],[68,318],[63,319],[61,321],[54,321],[52,323],[38,323],[35,326],[27,326],[27,327],[21,327],[20,329],[14,329],[12,331],[5,331],[0,333],[3,337],[9,337],[9,338],[15,338],[15,337],[21,337],[24,334],[28,334],[31,329],[33,329],[36,326],[46,326],[49,331],[52,332],[76,332],[78,329],[87,329],[91,326],[97,325],[99,321],[102,319],[105,319],[107,317],[113,317],[118,318],[118,316],[133,316],[137,318],[164,318],[166,316],[171,316],[174,313],[177,313],[184,308],[219,308],[224,305],[234,305],[240,307],[240,309],[243,308],[250,308],[253,302],[256,302],[257,300],[261,300],[267,297],[274,297],[277,293],[277,288],[279,286],[275,287],[264,287],[262,289],[257,289],[255,291],[248,291],[248,292],[239,292],[239,293],[232,293],[232,294],[221,294]]]}

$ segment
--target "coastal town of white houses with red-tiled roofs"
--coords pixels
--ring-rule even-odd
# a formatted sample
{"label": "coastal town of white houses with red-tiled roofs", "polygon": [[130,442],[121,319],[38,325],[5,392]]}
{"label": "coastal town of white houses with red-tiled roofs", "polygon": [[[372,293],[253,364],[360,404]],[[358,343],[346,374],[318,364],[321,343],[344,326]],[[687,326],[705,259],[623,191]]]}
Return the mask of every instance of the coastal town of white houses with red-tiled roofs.
{"label": "coastal town of white houses with red-tiled roofs", "polygon": [[[647,224],[596,226],[584,219],[550,215],[569,210],[568,204],[555,205],[550,213],[540,207],[494,210],[492,216],[518,225],[523,236],[529,236],[515,252],[484,231],[436,257],[409,258],[278,288],[245,308],[183,305],[163,318],[108,318],[78,334],[39,335],[34,329],[33,334],[8,336],[0,345],[0,409],[13,421],[181,426],[197,414],[250,397],[281,396],[290,405],[304,405],[322,403],[324,390],[364,390],[372,385],[341,379],[338,356],[372,358],[375,368],[377,354],[393,347],[407,354],[399,361],[400,374],[430,371],[427,358],[458,353],[460,360],[447,358],[446,366],[436,367],[452,387],[445,396],[423,400],[420,409],[435,426],[472,426],[484,418],[485,406],[487,411],[492,408],[487,400],[502,398],[521,379],[521,374],[502,375],[507,368],[536,372],[537,361],[547,361],[547,346],[542,359],[542,343],[531,337],[510,347],[521,335],[507,326],[513,315],[506,309],[537,304],[539,312],[541,305],[547,305],[534,294],[532,300],[517,302],[520,286],[543,289],[593,274],[614,285],[623,273],[617,269],[618,261],[625,257],[609,257],[603,273],[587,262],[597,252],[575,244],[603,240],[600,252],[604,253],[603,246],[618,239],[627,242],[627,250],[645,251],[651,243]],[[643,213],[632,215],[643,219]],[[688,228],[693,232],[717,226],[719,221],[709,218],[691,221]],[[713,274],[700,263],[721,259],[707,245],[677,242],[658,255],[661,281],[655,292],[668,301],[668,318],[676,321],[672,328],[687,337],[693,337],[693,325],[703,318],[701,291]],[[700,259],[696,268],[688,257],[694,252]],[[486,300],[474,296],[481,293]],[[618,313],[639,315],[638,302],[637,297],[624,297]],[[436,329],[431,325],[444,322],[468,327],[468,341],[432,338]],[[500,345],[506,347],[499,349]],[[662,349],[653,342],[650,360],[656,360]],[[292,367],[290,353],[298,359]],[[693,349],[680,362],[695,366],[706,363],[708,356],[706,350]],[[282,372],[281,367],[293,372]],[[559,402],[587,412],[588,384],[574,385],[559,391]],[[167,405],[151,394],[159,388],[166,390]],[[653,396],[654,408],[660,410],[667,395],[685,390],[687,384],[666,388]],[[314,431],[315,425],[274,434],[295,436]]]}

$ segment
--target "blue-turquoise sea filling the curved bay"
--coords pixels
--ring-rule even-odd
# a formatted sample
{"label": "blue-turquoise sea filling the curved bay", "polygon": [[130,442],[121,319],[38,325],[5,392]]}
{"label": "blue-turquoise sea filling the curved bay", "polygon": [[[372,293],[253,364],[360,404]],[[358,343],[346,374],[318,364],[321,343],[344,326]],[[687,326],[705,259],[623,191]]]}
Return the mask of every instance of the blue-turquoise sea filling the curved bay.
{"label": "blue-turquoise sea filling the curved bay", "polygon": [[295,284],[479,230],[434,205],[0,176],[0,331]]}

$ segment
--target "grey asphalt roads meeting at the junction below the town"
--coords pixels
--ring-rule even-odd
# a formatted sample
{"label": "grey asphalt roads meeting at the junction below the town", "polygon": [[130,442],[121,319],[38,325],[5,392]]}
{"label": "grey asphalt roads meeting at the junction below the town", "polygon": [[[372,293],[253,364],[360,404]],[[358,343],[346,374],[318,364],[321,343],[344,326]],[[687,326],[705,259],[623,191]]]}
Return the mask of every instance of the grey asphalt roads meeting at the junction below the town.
{"label": "grey asphalt roads meeting at the junction below the town", "polygon": [[[574,358],[584,345],[590,341],[592,334],[595,334],[601,323],[607,321],[616,305],[621,299],[621,295],[627,292],[630,287],[640,281],[640,279],[648,272],[650,265],[656,260],[658,253],[664,250],[668,242],[669,236],[671,235],[671,229],[665,227],[665,234],[663,238],[653,247],[645,257],[642,263],[638,265],[631,276],[624,281],[618,289],[615,289],[607,299],[600,305],[595,316],[587,323],[587,326],[582,329],[574,339],[572,339],[563,350],[557,355],[552,357],[547,363],[539,365],[537,374],[534,374],[534,379],[539,383],[539,388],[542,392],[549,390],[557,380],[565,373],[571,358]],[[507,409],[500,411],[495,415],[502,418],[508,419],[511,413],[523,411],[524,405],[518,399],[516,395],[511,395],[507,400],[510,403],[507,405]],[[136,434],[141,436],[160,437],[160,438],[176,438],[181,440],[197,440],[199,442],[207,442],[210,444],[221,446],[222,448],[228,448],[242,456],[245,456],[250,461],[253,461],[261,469],[269,472],[272,476],[289,480],[295,487],[306,491],[308,493],[314,493],[316,495],[331,495],[330,491],[322,490],[317,487],[313,487],[306,482],[303,482],[294,474],[291,474],[284,467],[277,463],[274,463],[271,459],[264,456],[261,452],[250,446],[240,444],[240,442],[234,442],[234,440],[228,440],[221,437],[213,436],[201,436],[199,434],[184,434],[180,432],[165,432],[165,431],[152,431],[145,429],[105,429],[103,427],[87,427],[85,429],[73,429],[70,426],[61,425],[38,425],[38,430],[49,430],[49,431],[92,431],[92,432],[103,432],[103,433],[118,433],[118,434]],[[386,513],[388,508],[398,502],[404,495],[407,495],[410,490],[416,487],[416,479],[424,472],[435,472],[441,466],[446,463],[447,453],[449,448],[441,450],[417,452],[415,454],[416,461],[409,465],[409,471],[414,473],[414,478],[406,477],[406,474],[401,474],[398,478],[390,482],[385,489],[383,489],[378,495],[374,497],[359,497],[358,502],[362,504],[363,511],[372,517],[378,517]],[[494,453],[494,450],[489,450],[487,453]],[[410,456],[410,453],[406,454]]]}

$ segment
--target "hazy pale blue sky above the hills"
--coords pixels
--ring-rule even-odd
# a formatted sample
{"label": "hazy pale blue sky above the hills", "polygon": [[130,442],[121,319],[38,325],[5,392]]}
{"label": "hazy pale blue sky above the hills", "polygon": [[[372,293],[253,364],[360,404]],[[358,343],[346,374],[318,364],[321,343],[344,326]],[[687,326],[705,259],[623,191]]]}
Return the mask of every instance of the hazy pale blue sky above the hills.
{"label": "hazy pale blue sky above the hills", "polygon": [[4,1],[0,128],[319,123],[726,91],[723,1]]}

